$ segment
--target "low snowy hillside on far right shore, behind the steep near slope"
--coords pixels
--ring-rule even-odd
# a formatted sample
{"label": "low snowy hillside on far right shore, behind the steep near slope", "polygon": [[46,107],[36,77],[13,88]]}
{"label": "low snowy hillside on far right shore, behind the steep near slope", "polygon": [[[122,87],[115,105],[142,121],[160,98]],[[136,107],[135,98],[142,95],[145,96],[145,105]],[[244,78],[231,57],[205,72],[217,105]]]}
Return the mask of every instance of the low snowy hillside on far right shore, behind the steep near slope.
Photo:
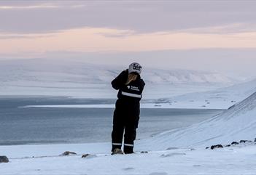
{"label": "low snowy hillside on far right shore, behind the steep near slope", "polygon": [[236,102],[249,97],[256,91],[256,79],[253,81],[216,89],[188,93],[174,97],[158,99],[158,103],[169,104],[173,108],[228,109]]}

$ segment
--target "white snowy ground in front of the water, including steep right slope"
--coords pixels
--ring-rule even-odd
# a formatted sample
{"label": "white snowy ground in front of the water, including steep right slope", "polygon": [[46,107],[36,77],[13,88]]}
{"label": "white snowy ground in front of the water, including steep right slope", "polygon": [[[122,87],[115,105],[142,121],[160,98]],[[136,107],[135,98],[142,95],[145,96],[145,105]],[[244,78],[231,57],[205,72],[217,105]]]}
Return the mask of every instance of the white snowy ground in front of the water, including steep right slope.
{"label": "white snowy ground in front of the water, including steep right slope", "polygon": [[[1,146],[10,162],[0,163],[0,174],[256,174],[255,142],[205,149],[254,140],[255,115],[256,93],[207,121],[136,141],[133,155],[110,155],[111,143]],[[58,156],[67,150],[79,155]]]}

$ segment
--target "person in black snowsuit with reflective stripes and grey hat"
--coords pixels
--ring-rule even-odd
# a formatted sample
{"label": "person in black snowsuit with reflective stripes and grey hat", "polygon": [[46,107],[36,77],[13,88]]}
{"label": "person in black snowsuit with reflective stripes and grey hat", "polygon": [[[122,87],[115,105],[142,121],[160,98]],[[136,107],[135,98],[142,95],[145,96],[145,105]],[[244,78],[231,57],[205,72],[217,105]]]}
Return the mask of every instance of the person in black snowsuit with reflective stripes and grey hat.
{"label": "person in black snowsuit with reflective stripes and grey hat", "polygon": [[[112,81],[112,87],[119,90],[113,116],[112,155],[134,153],[133,145],[140,114],[139,102],[145,86],[140,76],[141,70],[141,65],[133,62]],[[124,147],[121,150],[123,134]]]}

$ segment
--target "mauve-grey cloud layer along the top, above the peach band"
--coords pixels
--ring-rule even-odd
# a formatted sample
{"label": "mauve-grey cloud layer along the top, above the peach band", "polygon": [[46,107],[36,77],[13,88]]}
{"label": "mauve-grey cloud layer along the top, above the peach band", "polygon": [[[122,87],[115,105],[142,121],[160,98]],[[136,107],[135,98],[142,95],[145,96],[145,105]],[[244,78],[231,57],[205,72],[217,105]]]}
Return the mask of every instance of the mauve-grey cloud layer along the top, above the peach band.
{"label": "mauve-grey cloud layer along the top, above the peach band", "polygon": [[255,24],[256,16],[256,1],[50,1],[48,4],[4,1],[1,4],[11,8],[0,9],[0,30],[14,33],[84,27],[152,33]]}

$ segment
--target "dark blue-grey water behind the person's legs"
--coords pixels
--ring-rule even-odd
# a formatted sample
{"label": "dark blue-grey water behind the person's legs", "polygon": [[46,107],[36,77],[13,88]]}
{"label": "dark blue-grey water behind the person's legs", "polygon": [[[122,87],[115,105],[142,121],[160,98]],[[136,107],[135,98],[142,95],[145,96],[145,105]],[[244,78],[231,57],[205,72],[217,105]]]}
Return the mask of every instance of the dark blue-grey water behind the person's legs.
{"label": "dark blue-grey water behind the person's legs", "polygon": [[[0,145],[109,142],[114,109],[20,106],[113,103],[115,99],[0,97]],[[141,109],[137,139],[198,123],[221,112],[221,110]]]}

